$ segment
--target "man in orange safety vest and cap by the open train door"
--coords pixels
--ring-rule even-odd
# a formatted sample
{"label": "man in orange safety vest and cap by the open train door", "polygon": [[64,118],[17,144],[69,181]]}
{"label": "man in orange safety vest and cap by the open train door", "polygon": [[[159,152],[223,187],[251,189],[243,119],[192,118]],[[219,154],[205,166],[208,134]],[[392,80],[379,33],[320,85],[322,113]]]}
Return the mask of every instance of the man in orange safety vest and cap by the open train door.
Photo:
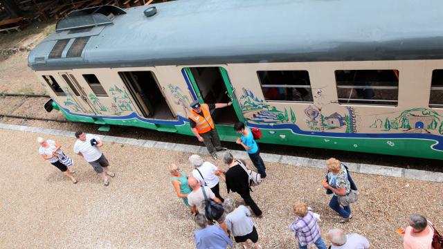
{"label": "man in orange safety vest and cap by the open train door", "polygon": [[216,103],[216,104],[200,104],[199,100],[195,100],[191,104],[191,113],[189,124],[192,133],[200,142],[204,142],[209,154],[217,160],[216,151],[223,151],[226,148],[221,147],[221,142],[217,129],[215,129],[213,118],[210,116],[210,111],[217,108],[229,107],[232,102]]}

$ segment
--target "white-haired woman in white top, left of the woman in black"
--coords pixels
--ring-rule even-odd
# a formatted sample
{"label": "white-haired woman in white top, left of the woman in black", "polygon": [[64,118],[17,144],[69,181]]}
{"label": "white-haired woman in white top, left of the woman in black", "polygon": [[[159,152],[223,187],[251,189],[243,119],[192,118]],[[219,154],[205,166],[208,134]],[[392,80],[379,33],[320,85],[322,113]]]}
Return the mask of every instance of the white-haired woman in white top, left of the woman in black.
{"label": "white-haired woman in white top, left of the woman in black", "polygon": [[215,197],[223,202],[224,199],[220,196],[220,180],[218,177],[220,175],[220,171],[217,166],[209,163],[208,161],[205,162],[199,155],[190,156],[189,161],[195,168],[192,170],[192,176],[199,180],[201,185],[208,186],[215,194]]}

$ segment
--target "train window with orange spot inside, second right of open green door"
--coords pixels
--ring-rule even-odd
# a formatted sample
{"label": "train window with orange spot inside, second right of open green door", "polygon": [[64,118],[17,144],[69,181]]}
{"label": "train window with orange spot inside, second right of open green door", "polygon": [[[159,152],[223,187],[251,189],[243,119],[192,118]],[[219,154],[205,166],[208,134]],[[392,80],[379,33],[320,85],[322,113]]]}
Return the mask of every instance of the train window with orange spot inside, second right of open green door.
{"label": "train window with orange spot inside, second right of open green door", "polygon": [[340,104],[398,104],[398,70],[337,70],[335,79]]}

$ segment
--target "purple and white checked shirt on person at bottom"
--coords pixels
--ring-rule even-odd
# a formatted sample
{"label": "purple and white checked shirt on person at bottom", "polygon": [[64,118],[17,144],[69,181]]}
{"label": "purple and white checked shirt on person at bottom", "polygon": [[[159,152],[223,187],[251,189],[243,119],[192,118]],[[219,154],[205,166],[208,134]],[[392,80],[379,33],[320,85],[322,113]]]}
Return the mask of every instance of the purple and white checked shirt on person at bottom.
{"label": "purple and white checked shirt on person at bottom", "polygon": [[312,212],[308,212],[305,217],[297,217],[296,221],[289,225],[289,229],[295,233],[298,243],[301,246],[309,246],[320,238],[320,227]]}

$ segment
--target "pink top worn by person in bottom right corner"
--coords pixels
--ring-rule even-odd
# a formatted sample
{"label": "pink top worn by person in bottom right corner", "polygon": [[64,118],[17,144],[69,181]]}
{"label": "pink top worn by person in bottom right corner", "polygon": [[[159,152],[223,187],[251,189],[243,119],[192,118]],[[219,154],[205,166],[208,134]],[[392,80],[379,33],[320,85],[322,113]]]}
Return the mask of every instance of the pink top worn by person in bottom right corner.
{"label": "pink top worn by person in bottom right corner", "polygon": [[403,239],[404,249],[433,249],[431,246],[434,230],[429,225],[422,232],[413,232],[410,225],[406,228]]}

